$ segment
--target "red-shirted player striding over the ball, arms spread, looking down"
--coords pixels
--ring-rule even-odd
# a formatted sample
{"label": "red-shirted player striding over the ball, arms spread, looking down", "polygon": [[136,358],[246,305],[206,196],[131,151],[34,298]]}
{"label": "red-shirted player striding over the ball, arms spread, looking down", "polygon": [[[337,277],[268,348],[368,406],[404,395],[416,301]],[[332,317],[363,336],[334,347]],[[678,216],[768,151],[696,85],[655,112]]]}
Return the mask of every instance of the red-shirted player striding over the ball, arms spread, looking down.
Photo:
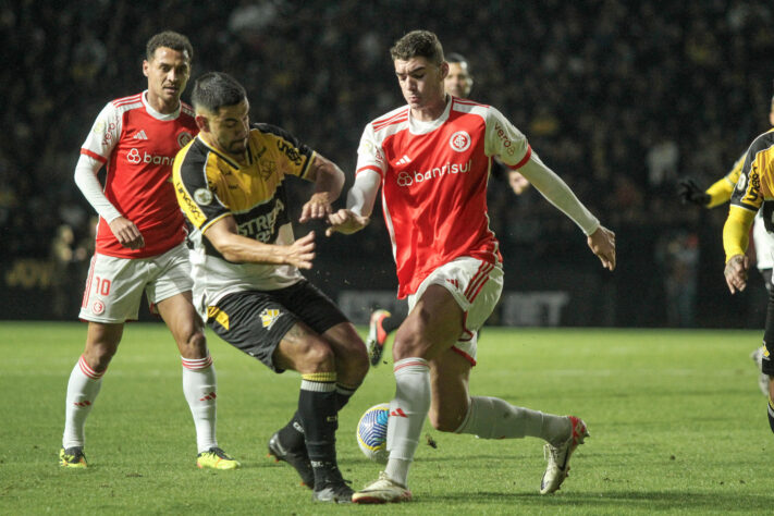
{"label": "red-shirted player striding over the ball, arms spread, looking down", "polygon": [[391,49],[408,106],[366,126],[347,209],[329,216],[327,234],[369,222],[379,186],[397,267],[398,297],[409,314],[393,344],[395,397],[390,402],[390,459],[356,503],[410,500],[408,469],[425,417],[441,431],[484,439],[541,438],[548,468],[540,492],[557,490],[569,457],[588,434],[585,422],[470,396],[477,330],[503,285],[497,239],[489,229],[486,191],[492,159],[518,170],[587,235],[602,266],[615,268],[615,235],[575,197],[496,109],[444,93],[449,64],[438,37],[414,30]]}

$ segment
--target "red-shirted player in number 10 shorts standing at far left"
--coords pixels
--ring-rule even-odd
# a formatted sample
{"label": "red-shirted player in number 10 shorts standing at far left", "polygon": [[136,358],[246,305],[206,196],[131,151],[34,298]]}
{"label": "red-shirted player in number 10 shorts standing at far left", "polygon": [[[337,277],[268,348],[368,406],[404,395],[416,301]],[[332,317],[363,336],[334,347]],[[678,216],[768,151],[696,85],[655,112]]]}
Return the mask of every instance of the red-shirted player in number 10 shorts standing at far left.
{"label": "red-shirted player in number 10 shorts standing at far left", "polygon": [[[217,381],[204,324],[192,304],[183,214],[172,187],[172,162],[198,128],[180,98],[194,50],[173,32],[148,40],[143,73],[148,89],[109,102],[81,148],[75,182],[99,213],[79,318],[86,346],[67,383],[60,464],[86,467],[86,418],[118,351],[124,322],[136,320],[143,292],[177,343],[183,392],[196,426],[198,467],[234,469],[216,440]],[[107,170],[105,187],[97,172]],[[142,401],[139,401],[142,403]]]}

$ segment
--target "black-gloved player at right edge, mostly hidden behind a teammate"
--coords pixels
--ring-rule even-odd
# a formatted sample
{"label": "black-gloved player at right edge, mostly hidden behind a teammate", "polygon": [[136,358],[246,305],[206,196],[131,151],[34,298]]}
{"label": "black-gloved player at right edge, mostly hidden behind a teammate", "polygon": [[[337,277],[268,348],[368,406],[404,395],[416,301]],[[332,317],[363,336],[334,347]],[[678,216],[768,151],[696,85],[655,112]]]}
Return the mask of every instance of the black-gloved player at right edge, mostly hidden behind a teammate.
{"label": "black-gloved player at right edge, mostly hidden behind a teammate", "polygon": [[[769,123],[774,126],[774,96],[772,96],[771,109],[769,110]],[[774,127],[770,128],[771,133]],[[732,167],[732,170],[713,183],[707,191],[702,191],[691,179],[685,179],[679,182],[678,194],[683,202],[692,202],[705,208],[714,208],[728,202],[734,192],[734,186],[739,181],[741,169],[747,158],[747,151],[739,157]],[[774,267],[774,235],[766,231],[763,223],[763,211],[759,210],[752,224],[752,241],[755,248],[755,267],[763,277],[763,284],[766,291],[772,292],[772,267]],[[764,346],[755,348],[750,354],[750,357],[758,366],[760,376],[758,378],[758,386],[764,396],[769,395],[769,374],[760,371],[763,361]]]}

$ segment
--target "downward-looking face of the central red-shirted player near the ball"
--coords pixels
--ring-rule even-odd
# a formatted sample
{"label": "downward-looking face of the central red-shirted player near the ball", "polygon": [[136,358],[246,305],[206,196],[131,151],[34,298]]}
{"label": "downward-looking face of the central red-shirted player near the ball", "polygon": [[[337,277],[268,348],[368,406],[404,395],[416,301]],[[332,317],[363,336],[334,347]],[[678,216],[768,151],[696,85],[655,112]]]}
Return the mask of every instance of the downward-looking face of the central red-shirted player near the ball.
{"label": "downward-looking face of the central red-shirted player near the ball", "polygon": [[447,72],[447,63],[432,64],[427,58],[395,60],[397,83],[411,109],[423,109],[443,101],[443,79]]}

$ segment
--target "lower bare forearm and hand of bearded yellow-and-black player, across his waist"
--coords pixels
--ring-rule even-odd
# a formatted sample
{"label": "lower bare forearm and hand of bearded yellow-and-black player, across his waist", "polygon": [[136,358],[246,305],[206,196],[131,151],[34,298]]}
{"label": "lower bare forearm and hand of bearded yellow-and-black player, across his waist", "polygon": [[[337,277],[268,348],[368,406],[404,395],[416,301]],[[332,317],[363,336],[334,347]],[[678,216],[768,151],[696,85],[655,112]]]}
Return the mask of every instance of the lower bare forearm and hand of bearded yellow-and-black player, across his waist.
{"label": "lower bare forearm and hand of bearded yellow-and-black player, across his waist", "polygon": [[290,265],[311,269],[315,259],[315,232],[291,245],[263,244],[238,234],[234,217],[222,217],[208,225],[204,235],[223,258],[235,263]]}

